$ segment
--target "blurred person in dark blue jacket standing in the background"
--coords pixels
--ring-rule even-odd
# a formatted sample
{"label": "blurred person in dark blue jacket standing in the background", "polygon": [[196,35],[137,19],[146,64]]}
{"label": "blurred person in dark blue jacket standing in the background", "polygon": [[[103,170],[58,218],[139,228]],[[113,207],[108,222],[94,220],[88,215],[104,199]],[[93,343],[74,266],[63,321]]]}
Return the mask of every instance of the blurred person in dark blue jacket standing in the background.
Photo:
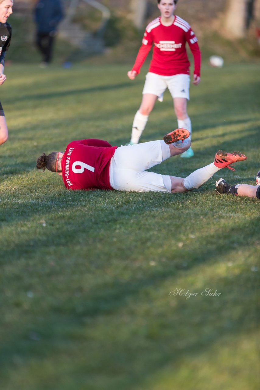
{"label": "blurred person in dark blue jacket standing in the background", "polygon": [[41,67],[46,67],[51,62],[57,27],[62,18],[63,9],[60,0],[37,0],[34,8],[35,43],[42,54]]}

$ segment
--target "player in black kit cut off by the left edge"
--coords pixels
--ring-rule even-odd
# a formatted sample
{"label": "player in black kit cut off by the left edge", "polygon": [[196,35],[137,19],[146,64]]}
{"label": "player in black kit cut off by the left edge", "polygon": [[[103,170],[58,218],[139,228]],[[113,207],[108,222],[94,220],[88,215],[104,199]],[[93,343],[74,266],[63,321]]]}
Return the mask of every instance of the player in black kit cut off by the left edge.
{"label": "player in black kit cut off by the left edge", "polygon": [[[8,50],[11,41],[12,28],[7,23],[7,18],[12,14],[12,0],[0,0],[0,85],[2,85],[6,76],[4,74],[5,51]],[[8,138],[8,129],[5,121],[5,114],[0,102],[0,145]]]}

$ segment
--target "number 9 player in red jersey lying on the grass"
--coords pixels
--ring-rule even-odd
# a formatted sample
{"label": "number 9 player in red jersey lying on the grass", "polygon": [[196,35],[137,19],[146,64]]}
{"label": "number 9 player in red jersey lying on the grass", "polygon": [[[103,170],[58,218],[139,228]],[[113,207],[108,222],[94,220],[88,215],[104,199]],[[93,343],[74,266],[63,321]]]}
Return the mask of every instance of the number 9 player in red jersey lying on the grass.
{"label": "number 9 player in red jersey lying on the grass", "polygon": [[185,179],[146,171],[186,151],[191,144],[188,137],[188,130],[176,129],[164,140],[120,147],[96,139],[73,141],[65,152],[43,153],[36,167],[57,172],[71,190],[186,192],[202,186],[221,168],[246,160],[240,152],[218,151],[213,163]]}

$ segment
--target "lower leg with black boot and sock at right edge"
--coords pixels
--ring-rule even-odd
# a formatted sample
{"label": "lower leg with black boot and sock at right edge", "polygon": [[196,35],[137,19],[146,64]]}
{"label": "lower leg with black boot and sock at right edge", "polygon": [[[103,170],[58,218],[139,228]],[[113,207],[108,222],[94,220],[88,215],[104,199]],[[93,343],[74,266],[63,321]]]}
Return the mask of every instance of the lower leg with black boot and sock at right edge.
{"label": "lower leg with black boot and sock at right edge", "polygon": [[248,196],[249,198],[260,199],[260,185],[251,186],[249,184],[235,184],[234,186],[230,186],[221,177],[216,181],[215,192],[217,194]]}

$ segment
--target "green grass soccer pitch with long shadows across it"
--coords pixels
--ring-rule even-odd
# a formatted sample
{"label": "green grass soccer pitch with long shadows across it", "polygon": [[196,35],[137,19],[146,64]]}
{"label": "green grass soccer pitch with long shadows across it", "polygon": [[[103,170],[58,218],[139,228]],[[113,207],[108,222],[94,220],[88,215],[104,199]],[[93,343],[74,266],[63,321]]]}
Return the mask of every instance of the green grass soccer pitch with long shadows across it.
{"label": "green grass soccer pitch with long shadows across it", "polygon": [[[191,86],[195,156],[153,170],[185,177],[218,149],[248,156],[199,190],[68,191],[60,176],[35,168],[42,152],[71,140],[129,141],[145,75],[131,82],[129,69],[5,69],[1,389],[256,390],[260,202],[217,196],[214,184],[255,184],[259,63],[203,64],[201,84]],[[141,141],[176,127],[166,92]]]}

